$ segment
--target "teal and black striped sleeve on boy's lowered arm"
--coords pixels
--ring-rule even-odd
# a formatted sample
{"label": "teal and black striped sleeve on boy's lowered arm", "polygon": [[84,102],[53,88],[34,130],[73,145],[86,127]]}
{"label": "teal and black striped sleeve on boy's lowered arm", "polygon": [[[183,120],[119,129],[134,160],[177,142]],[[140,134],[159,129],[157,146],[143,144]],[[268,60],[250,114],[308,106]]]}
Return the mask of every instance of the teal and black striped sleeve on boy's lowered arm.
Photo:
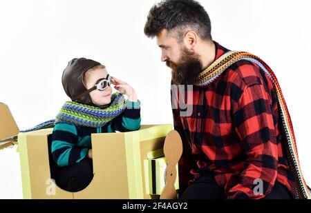
{"label": "teal and black striped sleeve on boy's lowered arm", "polygon": [[79,163],[88,154],[88,148],[77,148],[77,128],[69,123],[57,123],[52,135],[52,155],[59,167]]}

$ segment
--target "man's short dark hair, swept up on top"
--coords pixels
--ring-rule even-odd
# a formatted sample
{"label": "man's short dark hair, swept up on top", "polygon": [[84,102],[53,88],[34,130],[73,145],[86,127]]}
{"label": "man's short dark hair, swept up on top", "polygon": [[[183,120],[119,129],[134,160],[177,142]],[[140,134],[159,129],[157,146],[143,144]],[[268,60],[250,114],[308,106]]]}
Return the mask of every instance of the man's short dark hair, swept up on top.
{"label": "man's short dark hair, swept up on top", "polygon": [[194,0],[164,0],[149,11],[144,34],[153,38],[166,29],[181,41],[185,30],[194,30],[206,41],[211,40],[211,21],[205,9]]}

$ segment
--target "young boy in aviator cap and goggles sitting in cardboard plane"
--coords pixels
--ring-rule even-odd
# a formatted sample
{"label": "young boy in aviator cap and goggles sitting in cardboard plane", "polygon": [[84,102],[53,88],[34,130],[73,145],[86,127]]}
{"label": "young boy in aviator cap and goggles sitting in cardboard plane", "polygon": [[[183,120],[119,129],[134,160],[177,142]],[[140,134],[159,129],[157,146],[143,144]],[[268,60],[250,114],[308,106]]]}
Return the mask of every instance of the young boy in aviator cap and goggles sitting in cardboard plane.
{"label": "young boy in aviator cap and goggles sitting in cardboard plane", "polygon": [[[51,151],[59,167],[55,181],[77,192],[93,179],[91,134],[139,130],[140,101],[129,84],[91,59],[69,61],[62,83],[72,101],[60,110],[53,130]],[[112,93],[111,83],[119,92]]]}

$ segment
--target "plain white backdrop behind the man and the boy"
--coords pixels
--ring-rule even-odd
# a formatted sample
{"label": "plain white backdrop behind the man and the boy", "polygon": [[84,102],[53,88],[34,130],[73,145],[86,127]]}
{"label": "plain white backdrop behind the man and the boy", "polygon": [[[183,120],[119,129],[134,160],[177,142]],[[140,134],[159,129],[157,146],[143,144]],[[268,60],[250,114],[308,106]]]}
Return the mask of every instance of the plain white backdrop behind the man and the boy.
{"label": "plain white backdrop behind the man and the boy", "polygon": [[[172,123],[170,70],[143,28],[156,1],[0,1],[0,102],[19,129],[53,119],[64,101],[62,72],[86,57],[130,83],[142,123]],[[200,1],[212,36],[231,50],[261,57],[279,79],[294,124],[301,168],[311,185],[310,1]],[[0,150],[0,198],[21,199],[16,147]]]}

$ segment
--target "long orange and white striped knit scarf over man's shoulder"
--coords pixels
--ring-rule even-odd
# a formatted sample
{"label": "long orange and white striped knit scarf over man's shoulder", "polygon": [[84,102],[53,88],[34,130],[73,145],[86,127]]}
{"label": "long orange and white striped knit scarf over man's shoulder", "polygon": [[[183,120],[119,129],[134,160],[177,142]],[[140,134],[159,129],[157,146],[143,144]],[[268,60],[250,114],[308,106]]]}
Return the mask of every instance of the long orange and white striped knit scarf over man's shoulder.
{"label": "long orange and white striped knit scarf over man's shoulder", "polygon": [[285,103],[285,99],[281,91],[281,87],[278,80],[276,79],[274,72],[272,72],[272,70],[264,61],[247,52],[227,52],[223,54],[223,56],[221,56],[219,59],[214,61],[214,63],[209,65],[206,70],[199,74],[196,85],[201,87],[209,85],[210,83],[214,82],[220,76],[220,74],[222,74],[230,65],[240,60],[247,60],[256,63],[273,81],[279,101],[280,114],[283,121],[283,130],[286,136],[285,148],[288,152],[288,161],[296,179],[296,199],[311,199],[310,188],[308,187],[308,185],[306,185],[305,180],[303,179],[303,175],[299,165],[294,129],[292,126],[292,121],[290,119],[287,105]]}

